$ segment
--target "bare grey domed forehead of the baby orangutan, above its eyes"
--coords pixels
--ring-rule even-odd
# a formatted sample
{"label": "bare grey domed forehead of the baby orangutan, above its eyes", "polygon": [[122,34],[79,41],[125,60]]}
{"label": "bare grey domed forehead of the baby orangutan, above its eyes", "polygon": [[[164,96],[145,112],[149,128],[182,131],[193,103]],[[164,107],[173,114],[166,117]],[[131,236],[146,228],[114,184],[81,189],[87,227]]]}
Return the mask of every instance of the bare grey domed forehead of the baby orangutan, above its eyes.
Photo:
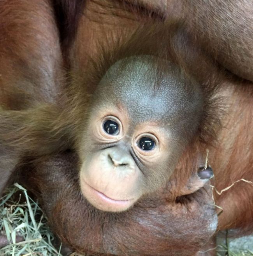
{"label": "bare grey domed forehead of the baby orangutan, above its eyes", "polygon": [[[169,64],[168,64],[169,65]],[[160,121],[167,124],[192,108],[194,90],[173,66],[157,72],[148,56],[133,57],[114,64],[100,81],[96,99],[100,104],[121,105],[132,122]]]}

